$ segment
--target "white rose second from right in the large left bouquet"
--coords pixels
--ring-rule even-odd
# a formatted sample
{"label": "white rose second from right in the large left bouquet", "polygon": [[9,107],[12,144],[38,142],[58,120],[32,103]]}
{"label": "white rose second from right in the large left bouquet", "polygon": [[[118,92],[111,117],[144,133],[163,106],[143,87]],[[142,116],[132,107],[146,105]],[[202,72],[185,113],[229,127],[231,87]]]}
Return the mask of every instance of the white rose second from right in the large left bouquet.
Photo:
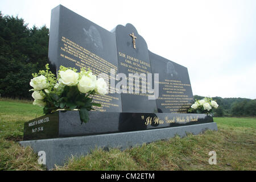
{"label": "white rose second from right in the large left bouquet", "polygon": [[96,86],[96,80],[92,77],[88,76],[82,76],[79,80],[79,84],[77,85],[77,88],[81,93],[87,93],[89,91],[92,91],[95,89]]}

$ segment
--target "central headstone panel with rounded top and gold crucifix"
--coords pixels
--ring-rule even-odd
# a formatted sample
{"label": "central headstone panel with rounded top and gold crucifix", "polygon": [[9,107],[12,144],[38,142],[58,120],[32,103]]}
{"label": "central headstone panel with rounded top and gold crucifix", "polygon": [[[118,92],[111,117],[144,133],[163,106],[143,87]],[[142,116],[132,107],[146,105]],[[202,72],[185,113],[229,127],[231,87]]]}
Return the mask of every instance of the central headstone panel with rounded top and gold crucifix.
{"label": "central headstone panel with rounded top and gold crucifix", "polygon": [[[155,100],[148,100],[145,86],[147,85],[146,75],[151,73],[146,41],[130,23],[126,24],[126,26],[118,25],[115,28],[115,36],[117,38],[119,73],[124,73],[127,76],[127,85],[129,81],[134,85],[131,89],[129,88],[130,85],[123,88],[127,92],[121,93],[123,112],[157,112],[156,102]],[[139,82],[135,82],[136,79]],[[139,89],[136,90],[136,86]],[[129,89],[131,92],[129,92]]]}

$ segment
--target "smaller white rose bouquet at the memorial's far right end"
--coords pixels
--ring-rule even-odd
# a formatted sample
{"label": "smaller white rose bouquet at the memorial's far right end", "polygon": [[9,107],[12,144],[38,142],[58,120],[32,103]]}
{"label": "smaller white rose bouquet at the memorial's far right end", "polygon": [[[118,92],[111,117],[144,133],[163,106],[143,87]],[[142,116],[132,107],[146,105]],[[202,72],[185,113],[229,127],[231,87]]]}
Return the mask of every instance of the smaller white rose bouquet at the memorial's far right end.
{"label": "smaller white rose bouquet at the memorial's far right end", "polygon": [[212,109],[217,109],[217,107],[218,104],[216,101],[213,101],[212,98],[205,97],[202,100],[196,100],[188,111],[190,113],[205,113],[207,115],[212,115]]}

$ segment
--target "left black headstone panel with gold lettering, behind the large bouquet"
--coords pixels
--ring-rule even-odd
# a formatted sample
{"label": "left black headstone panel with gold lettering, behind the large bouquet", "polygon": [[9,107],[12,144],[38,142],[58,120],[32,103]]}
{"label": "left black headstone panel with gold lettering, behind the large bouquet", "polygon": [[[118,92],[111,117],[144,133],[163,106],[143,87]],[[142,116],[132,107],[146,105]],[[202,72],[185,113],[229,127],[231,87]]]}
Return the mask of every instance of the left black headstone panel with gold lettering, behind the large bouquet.
{"label": "left black headstone panel with gold lettering, behind the large bouquet", "polygon": [[[110,69],[118,73],[115,34],[61,5],[52,9],[48,57],[56,73],[60,65],[105,73],[109,88]],[[102,105],[98,111],[122,111],[117,93],[94,96],[93,102]]]}

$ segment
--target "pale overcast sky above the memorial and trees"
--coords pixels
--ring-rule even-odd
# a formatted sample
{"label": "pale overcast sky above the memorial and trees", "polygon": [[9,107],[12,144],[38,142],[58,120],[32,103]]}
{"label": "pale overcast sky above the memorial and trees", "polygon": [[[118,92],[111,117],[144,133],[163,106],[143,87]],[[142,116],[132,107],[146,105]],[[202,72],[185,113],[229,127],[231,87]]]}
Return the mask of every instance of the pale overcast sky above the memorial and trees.
{"label": "pale overcast sky above the memorial and trees", "polygon": [[133,24],[151,52],[188,68],[194,95],[256,98],[254,0],[1,0],[0,11],[49,28],[59,4],[109,31]]}

